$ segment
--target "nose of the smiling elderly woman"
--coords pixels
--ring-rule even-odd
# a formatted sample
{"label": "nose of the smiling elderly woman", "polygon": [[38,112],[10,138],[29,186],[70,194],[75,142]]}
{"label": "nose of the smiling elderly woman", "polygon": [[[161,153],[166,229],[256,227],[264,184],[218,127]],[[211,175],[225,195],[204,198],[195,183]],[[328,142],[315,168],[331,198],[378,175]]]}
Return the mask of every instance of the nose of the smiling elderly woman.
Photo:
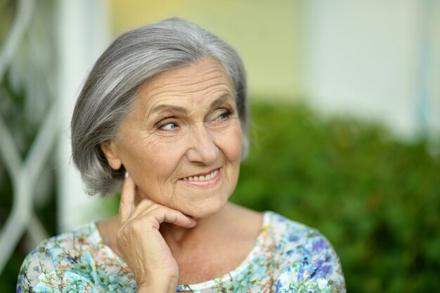
{"label": "nose of the smiling elderly woman", "polygon": [[195,124],[191,127],[188,141],[190,145],[186,157],[190,162],[199,162],[205,165],[216,162],[219,148],[215,145],[209,129],[204,124]]}

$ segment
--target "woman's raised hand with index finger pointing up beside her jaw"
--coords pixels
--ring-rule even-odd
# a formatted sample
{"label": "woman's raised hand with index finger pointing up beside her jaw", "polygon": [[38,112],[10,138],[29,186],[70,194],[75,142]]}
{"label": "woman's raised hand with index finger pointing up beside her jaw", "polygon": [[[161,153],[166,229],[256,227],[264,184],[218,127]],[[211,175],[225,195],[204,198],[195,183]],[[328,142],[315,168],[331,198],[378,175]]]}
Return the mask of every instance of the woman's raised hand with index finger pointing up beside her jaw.
{"label": "woman's raised hand with index finger pointing up beside her jaw", "polygon": [[143,199],[135,206],[136,184],[126,176],[119,203],[117,248],[134,273],[138,292],[176,292],[179,268],[159,232],[163,222],[192,228],[180,211]]}

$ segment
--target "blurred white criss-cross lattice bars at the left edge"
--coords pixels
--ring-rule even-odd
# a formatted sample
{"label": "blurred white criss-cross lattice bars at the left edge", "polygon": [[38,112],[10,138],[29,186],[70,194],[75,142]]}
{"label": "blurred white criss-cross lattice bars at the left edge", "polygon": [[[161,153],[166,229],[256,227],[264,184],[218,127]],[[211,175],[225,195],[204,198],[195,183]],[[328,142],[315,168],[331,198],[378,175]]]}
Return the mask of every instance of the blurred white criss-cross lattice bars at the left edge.
{"label": "blurred white criss-cross lattice bars at the left edge", "polygon": [[[34,9],[33,0],[22,0],[18,4],[17,15],[0,54],[0,79],[3,79],[6,69],[11,65],[18,51],[20,42],[30,26]],[[25,231],[29,232],[32,245],[36,245],[47,235],[35,216],[32,202],[34,202],[34,185],[56,140],[56,125],[56,105],[53,104],[39,128],[30,152],[22,160],[8,126],[0,117],[0,157],[13,185],[12,211],[0,231],[0,272],[3,271],[6,261]]]}

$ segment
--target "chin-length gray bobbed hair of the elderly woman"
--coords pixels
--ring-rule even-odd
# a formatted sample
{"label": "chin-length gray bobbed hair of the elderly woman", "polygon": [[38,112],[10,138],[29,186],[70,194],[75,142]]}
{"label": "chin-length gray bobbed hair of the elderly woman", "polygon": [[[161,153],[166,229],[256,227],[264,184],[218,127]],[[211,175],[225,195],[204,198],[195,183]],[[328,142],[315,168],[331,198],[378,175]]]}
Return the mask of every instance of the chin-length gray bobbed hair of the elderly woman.
{"label": "chin-length gray bobbed hair of the elderly woman", "polygon": [[119,126],[134,108],[138,86],[167,70],[210,56],[230,75],[243,133],[242,159],[247,156],[249,122],[245,68],[238,53],[201,27],[169,18],[122,34],[96,61],[73,112],[72,159],[90,195],[118,192],[124,167],[113,170],[101,143],[117,137]]}

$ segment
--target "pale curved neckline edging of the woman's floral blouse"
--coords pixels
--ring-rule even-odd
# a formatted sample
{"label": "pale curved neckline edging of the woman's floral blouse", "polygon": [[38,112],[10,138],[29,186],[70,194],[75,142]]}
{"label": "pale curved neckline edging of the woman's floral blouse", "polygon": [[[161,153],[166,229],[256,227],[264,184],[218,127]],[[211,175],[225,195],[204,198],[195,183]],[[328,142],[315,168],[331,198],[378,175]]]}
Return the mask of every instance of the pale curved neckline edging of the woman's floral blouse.
{"label": "pale curved neckline edging of the woman's floral blouse", "polygon": [[[212,280],[207,280],[205,282],[199,282],[196,284],[179,284],[179,285],[177,285],[177,291],[178,292],[179,291],[186,291],[189,289],[191,289],[191,290],[208,289],[210,287],[214,287],[215,285],[217,285],[221,282],[225,282],[227,280],[233,280],[235,278],[235,276],[242,273],[242,271],[244,271],[245,268],[247,268],[247,266],[249,266],[250,263],[252,263],[252,259],[254,259],[254,257],[261,254],[260,247],[261,247],[261,243],[264,242],[264,231],[266,230],[265,227],[268,226],[270,221],[271,221],[271,212],[264,211],[263,221],[261,222],[259,234],[257,235],[257,239],[254,242],[254,246],[252,247],[250,252],[247,254],[245,259],[236,268],[234,268],[232,271],[230,271],[228,273],[225,273],[224,275],[221,275],[221,276],[214,278]],[[105,242],[104,242],[103,238],[101,237],[101,234],[99,233],[99,230],[98,230],[98,227],[96,226],[96,223],[92,222],[91,226],[92,226],[91,237],[94,240],[96,240],[100,245],[103,246],[103,248],[106,250],[106,254],[108,254],[108,256],[112,257],[112,259],[115,259],[117,261],[117,263],[119,263],[120,266],[122,266],[124,268],[128,268],[127,263],[125,263],[125,261],[122,258],[120,258],[117,254],[115,254],[115,252],[113,252],[112,249],[110,249],[110,247],[105,245]]]}

